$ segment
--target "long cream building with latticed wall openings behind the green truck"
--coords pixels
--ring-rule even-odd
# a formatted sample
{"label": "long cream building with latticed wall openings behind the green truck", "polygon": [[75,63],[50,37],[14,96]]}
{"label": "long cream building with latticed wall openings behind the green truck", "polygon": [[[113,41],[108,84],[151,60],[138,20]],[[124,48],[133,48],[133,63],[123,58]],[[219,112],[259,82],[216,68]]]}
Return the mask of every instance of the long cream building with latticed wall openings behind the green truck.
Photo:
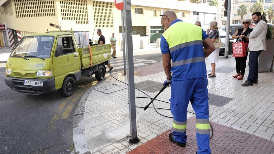
{"label": "long cream building with latticed wall openings behind the green truck", "polygon": [[[116,9],[114,0],[0,0],[0,5],[0,22],[7,27],[2,30],[0,41],[11,49],[27,34],[58,30],[50,23],[62,30],[89,31],[92,40],[98,40],[96,30],[101,29],[106,43],[111,33],[116,34],[118,44],[121,41],[121,11]],[[133,35],[144,37],[147,42],[160,38],[163,27],[159,15],[166,10],[173,10],[185,22],[200,20],[205,25],[215,20],[218,13],[217,7],[191,2],[132,0]]]}

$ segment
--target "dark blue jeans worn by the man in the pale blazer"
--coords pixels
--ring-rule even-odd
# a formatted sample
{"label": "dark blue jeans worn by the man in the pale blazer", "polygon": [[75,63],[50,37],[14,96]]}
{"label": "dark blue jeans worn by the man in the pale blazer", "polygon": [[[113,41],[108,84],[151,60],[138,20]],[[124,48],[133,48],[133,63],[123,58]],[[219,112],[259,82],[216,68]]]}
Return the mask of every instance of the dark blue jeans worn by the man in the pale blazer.
{"label": "dark blue jeans worn by the man in the pale blazer", "polygon": [[247,80],[248,82],[256,82],[258,81],[258,58],[259,55],[261,54],[261,51],[251,51],[249,53],[249,73],[248,73],[248,77]]}

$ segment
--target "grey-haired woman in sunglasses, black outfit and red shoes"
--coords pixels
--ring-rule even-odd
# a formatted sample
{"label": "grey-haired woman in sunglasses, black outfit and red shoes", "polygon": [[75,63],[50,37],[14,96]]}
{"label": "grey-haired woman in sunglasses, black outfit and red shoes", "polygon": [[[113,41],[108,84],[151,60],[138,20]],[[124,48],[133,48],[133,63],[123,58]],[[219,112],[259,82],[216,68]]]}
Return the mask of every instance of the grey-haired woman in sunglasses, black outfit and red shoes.
{"label": "grey-haired woman in sunglasses, black outfit and red shoes", "polygon": [[[249,25],[251,24],[251,20],[249,18],[243,19],[242,24],[243,24],[243,28],[237,30],[235,34],[232,35],[232,38],[237,39],[237,41],[239,40],[239,38],[242,38],[242,41],[244,41],[244,43],[248,43],[249,39],[247,36],[252,31],[252,29],[249,28]],[[238,77],[237,78],[238,80],[242,80],[244,77],[247,55],[248,53],[246,53],[246,56],[244,57],[235,57],[237,74],[233,77],[234,78]]]}

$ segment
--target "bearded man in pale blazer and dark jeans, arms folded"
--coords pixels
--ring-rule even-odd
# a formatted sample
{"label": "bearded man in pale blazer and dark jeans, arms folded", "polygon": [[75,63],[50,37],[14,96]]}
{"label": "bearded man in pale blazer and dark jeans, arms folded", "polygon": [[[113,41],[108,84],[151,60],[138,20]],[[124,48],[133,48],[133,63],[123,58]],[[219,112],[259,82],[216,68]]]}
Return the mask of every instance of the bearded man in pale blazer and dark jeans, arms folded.
{"label": "bearded man in pale blazer and dark jeans, arms folded", "polygon": [[247,81],[242,86],[253,86],[253,83],[258,84],[258,58],[261,52],[266,50],[267,23],[262,20],[261,12],[253,13],[252,20],[256,26],[249,35],[249,73]]}

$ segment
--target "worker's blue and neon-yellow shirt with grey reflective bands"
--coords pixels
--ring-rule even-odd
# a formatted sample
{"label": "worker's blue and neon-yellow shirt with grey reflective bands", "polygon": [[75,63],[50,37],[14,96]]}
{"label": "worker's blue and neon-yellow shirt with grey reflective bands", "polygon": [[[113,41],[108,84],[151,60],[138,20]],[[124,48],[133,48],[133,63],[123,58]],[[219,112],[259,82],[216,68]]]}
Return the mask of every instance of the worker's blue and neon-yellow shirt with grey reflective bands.
{"label": "worker's blue and neon-yellow shirt with grey reflective bands", "polygon": [[206,77],[203,33],[201,27],[179,20],[163,33],[172,59],[172,80]]}

